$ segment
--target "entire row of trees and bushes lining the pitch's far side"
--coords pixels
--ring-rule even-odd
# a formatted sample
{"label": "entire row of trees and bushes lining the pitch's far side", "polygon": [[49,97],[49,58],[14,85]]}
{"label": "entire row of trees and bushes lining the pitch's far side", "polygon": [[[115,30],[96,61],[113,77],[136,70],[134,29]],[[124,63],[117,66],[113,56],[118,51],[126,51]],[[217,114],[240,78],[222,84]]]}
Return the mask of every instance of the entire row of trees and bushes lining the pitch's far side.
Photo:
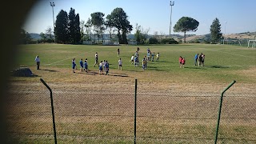
{"label": "entire row of trees and bushes lining the pitch's far side", "polygon": [[[40,36],[44,42],[57,42],[64,44],[80,44],[82,41],[96,41],[103,42],[103,34],[110,36],[110,41],[118,40],[121,44],[127,44],[127,34],[133,30],[130,25],[128,16],[122,8],[115,8],[111,14],[106,15],[102,12],[94,12],[90,14],[90,18],[86,22],[81,21],[79,14],[75,14],[75,10],[71,7],[70,12],[60,10],[56,17],[54,30],[50,27],[46,30],[46,34],[41,33]],[[194,18],[182,17],[174,25],[174,32],[184,33],[184,42],[186,43],[186,32],[198,30],[199,22]],[[148,38],[150,29],[143,30],[142,26],[136,24],[135,26],[135,41],[144,44],[157,43],[178,43],[174,38],[158,38],[157,34]],[[54,33],[54,35],[53,35]],[[221,25],[218,18],[215,18],[210,26],[210,41],[219,42],[222,38]],[[25,30],[21,30],[20,43],[26,43],[31,38],[26,34]]]}

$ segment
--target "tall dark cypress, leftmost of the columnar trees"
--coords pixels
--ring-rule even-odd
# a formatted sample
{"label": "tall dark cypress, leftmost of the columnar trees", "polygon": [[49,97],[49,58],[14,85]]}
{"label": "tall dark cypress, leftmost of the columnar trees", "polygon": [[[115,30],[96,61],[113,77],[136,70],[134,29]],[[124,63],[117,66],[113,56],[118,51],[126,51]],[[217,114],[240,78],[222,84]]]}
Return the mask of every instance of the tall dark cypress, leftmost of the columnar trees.
{"label": "tall dark cypress, leftmost of the columnar trees", "polygon": [[65,10],[61,10],[56,17],[54,33],[56,42],[67,43],[69,41],[68,15]]}

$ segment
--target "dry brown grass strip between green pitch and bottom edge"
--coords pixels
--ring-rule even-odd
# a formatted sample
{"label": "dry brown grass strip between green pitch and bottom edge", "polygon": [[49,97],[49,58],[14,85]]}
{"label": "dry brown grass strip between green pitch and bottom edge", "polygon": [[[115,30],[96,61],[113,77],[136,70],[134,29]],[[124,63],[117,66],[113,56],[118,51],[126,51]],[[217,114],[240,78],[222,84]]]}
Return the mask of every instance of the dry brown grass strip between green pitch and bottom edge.
{"label": "dry brown grass strip between green pitch and bottom edge", "polygon": [[[49,72],[42,70],[37,74]],[[131,76],[132,72],[114,70],[110,75],[99,75],[97,71],[88,74],[77,71],[71,78],[63,74],[70,74],[70,70],[62,70],[61,78],[54,75],[45,80],[53,90],[57,134],[64,143],[73,137],[74,142],[98,137],[133,138],[135,77]],[[52,134],[50,93],[39,78],[10,83],[6,108],[8,132],[18,141],[26,138],[33,142]],[[152,138],[151,143],[159,138],[164,139],[160,143],[177,139],[188,143],[213,142],[219,98],[226,85],[138,80],[138,138]],[[232,86],[223,98],[219,137],[230,142],[241,139],[256,142],[255,103],[254,84],[238,82]]]}

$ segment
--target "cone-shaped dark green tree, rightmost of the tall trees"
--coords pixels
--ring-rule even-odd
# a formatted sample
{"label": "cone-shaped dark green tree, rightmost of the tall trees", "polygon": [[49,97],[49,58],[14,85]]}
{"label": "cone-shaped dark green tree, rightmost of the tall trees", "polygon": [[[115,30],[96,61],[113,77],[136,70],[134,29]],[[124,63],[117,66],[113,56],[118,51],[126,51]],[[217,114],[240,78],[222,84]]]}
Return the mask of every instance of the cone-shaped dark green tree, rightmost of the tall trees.
{"label": "cone-shaped dark green tree, rightmost of the tall trees", "polygon": [[210,26],[210,41],[211,42],[218,42],[220,38],[222,38],[221,32],[221,24],[218,21],[218,18],[214,19],[214,22]]}

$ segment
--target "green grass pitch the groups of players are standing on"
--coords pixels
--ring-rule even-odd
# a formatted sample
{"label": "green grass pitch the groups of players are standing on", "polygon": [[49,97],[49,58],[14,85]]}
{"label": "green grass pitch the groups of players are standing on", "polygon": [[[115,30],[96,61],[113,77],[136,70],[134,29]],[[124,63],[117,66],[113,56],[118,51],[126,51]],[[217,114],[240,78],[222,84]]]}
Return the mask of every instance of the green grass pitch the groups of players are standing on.
{"label": "green grass pitch the groups of players are standing on", "polygon": [[[44,68],[60,68],[71,70],[71,60],[76,58],[79,69],[80,58],[88,58],[89,70],[98,72],[94,67],[94,54],[98,52],[99,61],[107,60],[110,63],[110,72],[118,69],[117,48],[120,48],[120,57],[123,61],[122,73],[138,76],[142,68],[130,64],[130,57],[138,46],[85,46],[61,44],[37,44],[18,46],[18,55],[15,67],[35,67],[34,58],[39,55]],[[152,52],[160,53],[158,62],[148,62],[151,75],[157,76],[154,81],[160,82],[231,82],[237,80],[243,83],[255,83],[256,50],[240,46],[223,45],[162,45],[139,46],[140,65],[142,56],[146,55],[149,47]],[[194,66],[194,54],[206,54],[205,66]],[[186,58],[184,69],[179,68],[179,56]],[[244,74],[248,70],[250,74]],[[150,80],[141,74],[144,81]],[[166,78],[167,77],[167,78]],[[138,76],[140,78],[140,76]],[[152,80],[152,77],[151,77]]]}

